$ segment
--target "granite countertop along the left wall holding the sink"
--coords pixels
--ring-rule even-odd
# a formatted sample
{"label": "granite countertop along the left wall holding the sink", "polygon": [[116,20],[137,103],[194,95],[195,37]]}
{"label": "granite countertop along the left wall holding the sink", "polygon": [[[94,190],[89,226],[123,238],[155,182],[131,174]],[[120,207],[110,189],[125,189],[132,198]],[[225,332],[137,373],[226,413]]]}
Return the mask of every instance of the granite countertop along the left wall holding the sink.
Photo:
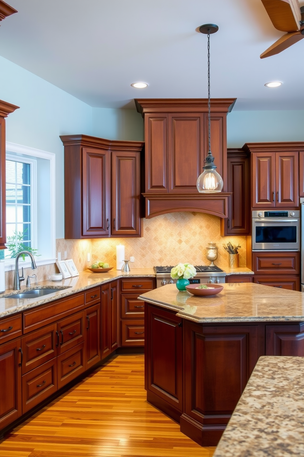
{"label": "granite countertop along the left wall holding the sink", "polygon": [[[20,291],[6,289],[5,292],[0,294],[0,318],[9,316],[10,314],[25,311],[26,309],[33,308],[45,303],[52,302],[59,298],[67,297],[73,293],[83,292],[86,289],[94,286],[100,286],[106,282],[114,281],[119,278],[136,278],[136,277],[154,277],[155,272],[153,268],[134,268],[129,273],[123,273],[119,270],[111,270],[106,273],[93,273],[92,271],[82,271],[79,276],[63,279],[62,281],[41,281],[37,285],[33,284],[31,287],[21,286]],[[8,294],[15,294],[25,290],[31,290],[37,287],[41,288],[54,288],[55,292],[45,295],[41,298],[10,298]],[[67,287],[64,290],[56,292],[56,287]]]}

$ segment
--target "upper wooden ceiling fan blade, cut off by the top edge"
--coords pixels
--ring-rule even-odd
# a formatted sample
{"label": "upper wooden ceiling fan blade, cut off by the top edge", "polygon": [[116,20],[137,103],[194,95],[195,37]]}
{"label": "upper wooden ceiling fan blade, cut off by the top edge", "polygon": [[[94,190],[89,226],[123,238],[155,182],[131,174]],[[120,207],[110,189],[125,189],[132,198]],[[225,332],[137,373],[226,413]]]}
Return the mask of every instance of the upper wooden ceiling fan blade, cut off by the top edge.
{"label": "upper wooden ceiling fan blade, cut off by the top edge", "polygon": [[262,0],[265,10],[277,30],[300,30],[301,11],[298,0]]}

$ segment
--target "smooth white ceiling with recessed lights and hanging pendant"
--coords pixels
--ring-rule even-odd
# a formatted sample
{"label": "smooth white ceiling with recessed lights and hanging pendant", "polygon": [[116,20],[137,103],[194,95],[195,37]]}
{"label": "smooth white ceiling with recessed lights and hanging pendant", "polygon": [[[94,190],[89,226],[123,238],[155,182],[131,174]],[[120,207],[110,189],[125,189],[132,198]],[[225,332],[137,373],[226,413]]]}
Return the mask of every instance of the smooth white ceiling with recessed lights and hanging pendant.
{"label": "smooth white ceiling with recessed lights and hanging pendant", "polygon": [[[6,1],[18,13],[0,24],[0,55],[91,106],[206,98],[207,36],[197,29],[215,23],[211,98],[237,98],[233,110],[304,109],[304,39],[260,59],[283,35],[261,0]],[[266,88],[271,80],[283,85]]]}

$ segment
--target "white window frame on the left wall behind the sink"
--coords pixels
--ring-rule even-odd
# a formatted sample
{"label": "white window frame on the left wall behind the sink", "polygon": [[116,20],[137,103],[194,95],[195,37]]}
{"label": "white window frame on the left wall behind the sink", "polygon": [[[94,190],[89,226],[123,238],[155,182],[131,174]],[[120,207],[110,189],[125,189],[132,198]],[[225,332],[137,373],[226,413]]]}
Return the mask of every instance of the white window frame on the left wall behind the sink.
{"label": "white window frame on the left wall behind the sink", "polygon": [[[35,257],[35,262],[37,266],[40,265],[48,265],[56,262],[56,221],[55,221],[55,154],[52,152],[47,152],[47,151],[42,151],[41,149],[35,149],[35,148],[30,148],[27,146],[22,146],[21,144],[16,144],[16,143],[10,143],[6,142],[6,151],[7,154],[6,158],[8,160],[20,160],[22,161],[22,156],[10,154],[10,153],[16,153],[16,154],[23,154],[23,155],[29,155],[31,157],[37,157],[40,159],[46,159],[50,161],[50,211],[51,211],[51,227],[50,227],[50,243],[51,243],[51,258],[49,259],[41,259],[39,256]],[[28,161],[26,160],[28,163]],[[33,207],[31,208],[31,217],[33,215],[33,221],[37,224],[37,192],[39,189],[37,189],[37,186],[34,182],[31,184],[31,190],[33,192],[32,196],[32,202],[33,202]],[[32,213],[33,212],[33,213]],[[33,233],[33,246],[34,244],[37,244],[37,225],[36,227],[32,227],[32,233]],[[20,265],[27,268],[31,266],[31,260],[30,257],[27,255],[25,261],[22,261],[20,259]],[[15,269],[15,259],[5,259],[5,271],[10,271]]]}

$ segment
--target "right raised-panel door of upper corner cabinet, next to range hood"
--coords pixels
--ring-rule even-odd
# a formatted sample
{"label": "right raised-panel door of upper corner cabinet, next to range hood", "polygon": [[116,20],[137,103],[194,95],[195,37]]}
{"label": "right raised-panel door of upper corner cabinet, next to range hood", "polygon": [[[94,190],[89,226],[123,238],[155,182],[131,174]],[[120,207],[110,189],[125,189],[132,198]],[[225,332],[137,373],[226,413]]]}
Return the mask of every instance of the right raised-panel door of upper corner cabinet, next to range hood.
{"label": "right raised-panel door of upper corner cabinet, next to range hood", "polygon": [[112,152],[112,235],[140,235],[140,153]]}

